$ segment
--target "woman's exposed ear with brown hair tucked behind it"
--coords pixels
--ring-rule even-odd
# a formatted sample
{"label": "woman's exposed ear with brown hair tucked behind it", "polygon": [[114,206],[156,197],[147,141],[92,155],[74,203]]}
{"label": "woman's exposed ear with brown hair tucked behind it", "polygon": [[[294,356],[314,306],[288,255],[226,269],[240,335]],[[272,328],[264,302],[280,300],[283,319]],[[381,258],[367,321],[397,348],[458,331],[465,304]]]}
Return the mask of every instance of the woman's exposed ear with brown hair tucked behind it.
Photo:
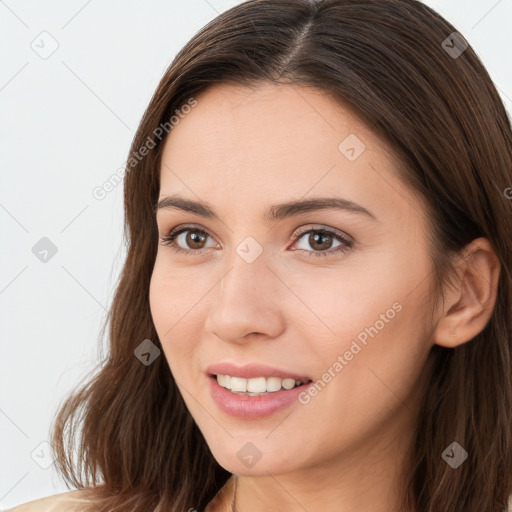
{"label": "woman's exposed ear with brown hair tucked behind it", "polygon": [[484,330],[496,304],[501,270],[487,238],[476,238],[457,257],[457,285],[445,291],[433,333],[433,342],[448,348],[462,345]]}

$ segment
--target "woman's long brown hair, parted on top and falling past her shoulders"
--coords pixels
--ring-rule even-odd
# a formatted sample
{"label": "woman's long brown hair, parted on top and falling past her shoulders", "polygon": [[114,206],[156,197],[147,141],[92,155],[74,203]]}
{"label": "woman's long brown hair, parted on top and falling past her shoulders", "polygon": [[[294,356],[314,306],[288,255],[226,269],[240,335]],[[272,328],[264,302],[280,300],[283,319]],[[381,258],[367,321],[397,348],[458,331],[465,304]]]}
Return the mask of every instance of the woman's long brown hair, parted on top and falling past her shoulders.
{"label": "woman's long brown hair, parted on top and falling past her shoulders", "polygon": [[[126,165],[128,250],[102,330],[108,324],[108,354],[61,404],[52,425],[56,465],[69,484],[94,487],[91,510],[201,511],[231,476],[213,458],[165,357],[146,366],[134,350],[145,339],[162,348],[148,292],[169,120],[209,86],[263,82],[326,91],[391,145],[403,162],[401,178],[428,205],[438,292],[453,276],[449,255],[477,237],[491,242],[502,268],[496,306],[473,340],[431,350],[404,468],[404,510],[506,510],[512,494],[512,129],[482,62],[454,32],[417,0],[249,0],[180,50]],[[456,470],[441,456],[453,441],[469,454]]]}

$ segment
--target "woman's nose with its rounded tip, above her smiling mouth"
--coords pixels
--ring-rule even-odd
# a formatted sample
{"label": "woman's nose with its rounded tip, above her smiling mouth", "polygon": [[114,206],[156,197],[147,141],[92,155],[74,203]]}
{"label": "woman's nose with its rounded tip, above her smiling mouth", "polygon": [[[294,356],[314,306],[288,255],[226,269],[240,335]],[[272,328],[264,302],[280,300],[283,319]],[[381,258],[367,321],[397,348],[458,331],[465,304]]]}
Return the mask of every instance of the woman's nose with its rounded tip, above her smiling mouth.
{"label": "woman's nose with its rounded tip, above her smiling mouth", "polygon": [[247,263],[236,254],[230,264],[210,292],[214,300],[206,318],[206,331],[233,343],[247,342],[253,338],[249,335],[279,336],[284,329],[283,293],[287,289],[276,271],[267,265],[263,255]]}

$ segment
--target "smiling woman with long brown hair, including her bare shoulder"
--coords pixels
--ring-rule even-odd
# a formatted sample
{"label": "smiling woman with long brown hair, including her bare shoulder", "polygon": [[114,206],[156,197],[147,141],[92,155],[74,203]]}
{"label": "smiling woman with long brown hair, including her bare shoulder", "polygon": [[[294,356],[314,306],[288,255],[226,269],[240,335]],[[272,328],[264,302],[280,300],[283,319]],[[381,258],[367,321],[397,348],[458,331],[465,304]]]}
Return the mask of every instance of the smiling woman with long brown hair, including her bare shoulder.
{"label": "smiling woman with long brown hair, including her bare shoulder", "polygon": [[512,130],[451,24],[239,4],[126,168],[110,354],[53,426],[79,490],[30,510],[507,510]]}

